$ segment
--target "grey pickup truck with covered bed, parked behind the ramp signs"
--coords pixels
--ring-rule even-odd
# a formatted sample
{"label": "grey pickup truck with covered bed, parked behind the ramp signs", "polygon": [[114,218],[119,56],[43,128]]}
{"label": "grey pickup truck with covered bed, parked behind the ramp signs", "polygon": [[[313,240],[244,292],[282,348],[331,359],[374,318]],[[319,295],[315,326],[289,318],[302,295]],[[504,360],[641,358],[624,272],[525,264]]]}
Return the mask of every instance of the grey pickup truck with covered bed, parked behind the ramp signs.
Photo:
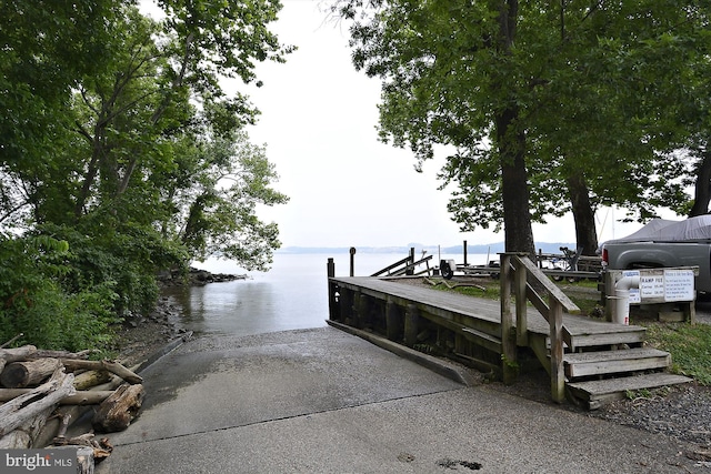
{"label": "grey pickup truck with covered bed, parked behind the ramp signs", "polygon": [[695,289],[711,293],[711,215],[652,220],[631,235],[602,243],[599,253],[609,270],[699,266]]}

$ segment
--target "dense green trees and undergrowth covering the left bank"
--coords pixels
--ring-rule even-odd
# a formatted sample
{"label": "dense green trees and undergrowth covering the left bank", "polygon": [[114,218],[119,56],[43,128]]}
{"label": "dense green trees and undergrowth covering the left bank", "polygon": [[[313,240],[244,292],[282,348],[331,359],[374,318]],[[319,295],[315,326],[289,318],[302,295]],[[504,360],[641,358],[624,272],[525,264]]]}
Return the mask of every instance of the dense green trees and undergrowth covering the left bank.
{"label": "dense green trees and undergrowth covering the left bank", "polygon": [[268,29],[281,4],[158,4],[161,21],[131,0],[0,3],[2,337],[101,346],[152,307],[158,272],[266,269],[279,246],[257,206],[287,198],[241,131],[258,111],[221,79],[292,51]]}

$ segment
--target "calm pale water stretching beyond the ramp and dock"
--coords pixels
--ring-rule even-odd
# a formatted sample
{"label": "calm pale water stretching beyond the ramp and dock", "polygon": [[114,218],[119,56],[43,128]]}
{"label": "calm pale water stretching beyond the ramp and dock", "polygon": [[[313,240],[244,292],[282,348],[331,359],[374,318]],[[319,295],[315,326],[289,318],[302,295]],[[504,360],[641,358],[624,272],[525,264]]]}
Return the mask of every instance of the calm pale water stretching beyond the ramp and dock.
{"label": "calm pale water stretching beyond the ramp and dock", "polygon": [[[167,295],[183,307],[179,323],[198,333],[250,335],[320,327],[328,319],[329,256],[336,261],[337,276],[349,274],[349,254],[280,253],[274,255],[272,269],[266,273],[247,272],[229,261],[209,260],[194,266],[213,273],[248,273],[249,279],[171,290]],[[404,256],[407,254],[357,254],[356,275],[372,274]],[[461,255],[441,258],[462,262]],[[470,254],[468,260],[482,264],[487,255]],[[430,265],[434,264],[432,261]]]}

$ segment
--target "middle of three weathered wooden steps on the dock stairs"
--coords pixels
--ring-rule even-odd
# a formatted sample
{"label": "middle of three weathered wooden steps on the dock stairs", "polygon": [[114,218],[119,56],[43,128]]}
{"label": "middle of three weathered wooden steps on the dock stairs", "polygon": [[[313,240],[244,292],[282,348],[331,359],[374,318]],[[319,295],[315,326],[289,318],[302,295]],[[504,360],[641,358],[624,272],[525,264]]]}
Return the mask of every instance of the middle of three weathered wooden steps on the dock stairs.
{"label": "middle of three weathered wooden steps on the dock stairs", "polygon": [[667,369],[671,365],[671,355],[657,349],[637,347],[564,354],[563,363],[565,376],[571,380],[588,375]]}

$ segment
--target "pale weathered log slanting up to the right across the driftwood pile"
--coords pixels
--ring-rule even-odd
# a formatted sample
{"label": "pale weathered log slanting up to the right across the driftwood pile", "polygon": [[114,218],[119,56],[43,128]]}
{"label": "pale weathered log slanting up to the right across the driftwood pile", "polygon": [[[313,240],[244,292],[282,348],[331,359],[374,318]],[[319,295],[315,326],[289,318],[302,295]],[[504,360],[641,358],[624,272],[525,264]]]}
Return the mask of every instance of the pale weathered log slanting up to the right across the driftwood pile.
{"label": "pale weathered log slanting up to the right across the driftwood pile", "polygon": [[74,374],[66,374],[64,367],[60,366],[48,382],[0,406],[0,436],[12,432],[47,409],[53,409],[63,397],[73,395],[73,380]]}

